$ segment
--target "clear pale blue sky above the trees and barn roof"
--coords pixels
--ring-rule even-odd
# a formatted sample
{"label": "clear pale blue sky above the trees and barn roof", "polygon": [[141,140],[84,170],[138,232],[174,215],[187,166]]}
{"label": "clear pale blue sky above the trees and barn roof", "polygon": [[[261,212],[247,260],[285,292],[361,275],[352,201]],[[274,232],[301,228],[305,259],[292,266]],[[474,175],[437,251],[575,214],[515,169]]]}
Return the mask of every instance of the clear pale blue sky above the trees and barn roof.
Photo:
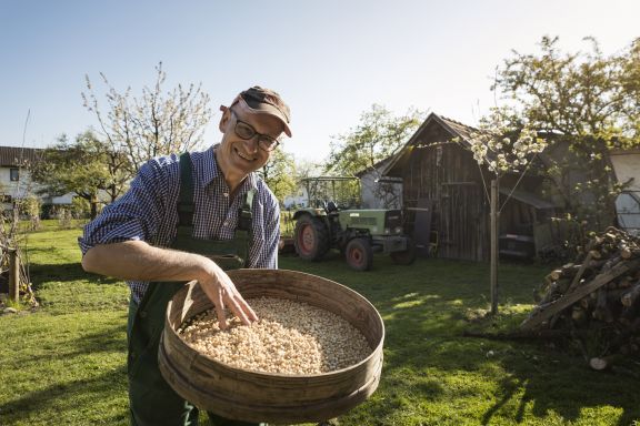
{"label": "clear pale blue sky above the trees and barn roof", "polygon": [[537,52],[547,34],[586,50],[592,36],[613,53],[640,37],[638,17],[638,0],[0,0],[0,145],[22,145],[29,110],[26,146],[96,126],[86,74],[138,94],[162,61],[166,88],[210,94],[208,142],[218,105],[260,84],[291,106],[284,149],[320,161],[373,103],[474,124],[512,49]]}

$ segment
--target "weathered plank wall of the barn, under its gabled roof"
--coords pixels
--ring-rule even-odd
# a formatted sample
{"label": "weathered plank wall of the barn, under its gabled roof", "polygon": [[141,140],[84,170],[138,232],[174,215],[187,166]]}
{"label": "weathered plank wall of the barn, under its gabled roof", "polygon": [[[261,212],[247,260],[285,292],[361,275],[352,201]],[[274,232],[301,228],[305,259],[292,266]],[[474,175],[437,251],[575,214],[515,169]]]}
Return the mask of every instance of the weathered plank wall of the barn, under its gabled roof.
{"label": "weathered plank wall of the barn, under its gabled roof", "polygon": [[[489,258],[489,202],[478,163],[441,126],[424,129],[402,168],[404,206],[414,227],[416,211],[430,200],[432,239],[438,256],[470,261]],[[488,181],[487,181],[488,184]],[[504,199],[504,196],[502,196]],[[502,205],[502,201],[501,204]],[[533,207],[509,200],[501,212],[500,233],[529,234]]]}

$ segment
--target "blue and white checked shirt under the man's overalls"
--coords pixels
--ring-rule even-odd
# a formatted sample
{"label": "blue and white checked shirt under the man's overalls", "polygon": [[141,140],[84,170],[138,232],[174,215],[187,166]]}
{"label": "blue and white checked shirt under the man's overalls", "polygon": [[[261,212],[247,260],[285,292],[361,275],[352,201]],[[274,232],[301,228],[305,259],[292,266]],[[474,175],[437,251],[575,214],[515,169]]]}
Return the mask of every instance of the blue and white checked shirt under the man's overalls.
{"label": "blue and white checked shirt under the man's overalls", "polygon": [[[229,201],[229,186],[216,156],[214,146],[191,153],[193,163],[193,236],[207,240],[232,240],[238,225],[238,209],[249,189],[253,197],[252,240],[249,267],[277,268],[280,240],[280,207],[267,184],[250,174]],[[176,236],[177,202],[180,192],[180,162],[178,155],[161,156],[147,162],[129,191],[104,207],[78,239],[82,255],[97,244],[123,241],[146,241],[158,247],[168,247]],[[130,281],[132,297],[140,303],[148,282]]]}

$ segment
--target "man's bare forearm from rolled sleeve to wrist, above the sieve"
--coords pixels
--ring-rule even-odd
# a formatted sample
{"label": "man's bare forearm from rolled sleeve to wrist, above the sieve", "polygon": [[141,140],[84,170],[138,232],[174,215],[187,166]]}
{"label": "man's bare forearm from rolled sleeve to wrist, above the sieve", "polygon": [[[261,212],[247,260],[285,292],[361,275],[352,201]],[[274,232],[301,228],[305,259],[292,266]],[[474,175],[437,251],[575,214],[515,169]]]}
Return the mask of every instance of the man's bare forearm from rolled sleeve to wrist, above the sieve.
{"label": "man's bare forearm from rolled sleeve to wrist, above the sieve", "polygon": [[131,281],[198,280],[212,263],[204,256],[153,247],[142,241],[100,244],[82,258],[87,272]]}

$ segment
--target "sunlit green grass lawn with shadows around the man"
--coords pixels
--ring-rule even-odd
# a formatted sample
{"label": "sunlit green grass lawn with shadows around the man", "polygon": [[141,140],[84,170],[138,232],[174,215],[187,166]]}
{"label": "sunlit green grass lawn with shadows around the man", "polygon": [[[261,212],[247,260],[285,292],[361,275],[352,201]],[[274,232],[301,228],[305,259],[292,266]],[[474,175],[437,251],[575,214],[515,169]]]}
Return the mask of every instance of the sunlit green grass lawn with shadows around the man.
{"label": "sunlit green grass lawn with shadows around the man", "polygon": [[[79,229],[28,235],[34,313],[0,316],[0,425],[128,424],[122,282],[86,274]],[[550,266],[500,265],[501,314],[489,307],[486,264],[418,260],[350,271],[284,256],[280,267],[346,284],[386,324],[384,367],[369,400],[340,425],[639,425],[640,381],[590,371],[539,342],[463,337],[513,329]]]}

